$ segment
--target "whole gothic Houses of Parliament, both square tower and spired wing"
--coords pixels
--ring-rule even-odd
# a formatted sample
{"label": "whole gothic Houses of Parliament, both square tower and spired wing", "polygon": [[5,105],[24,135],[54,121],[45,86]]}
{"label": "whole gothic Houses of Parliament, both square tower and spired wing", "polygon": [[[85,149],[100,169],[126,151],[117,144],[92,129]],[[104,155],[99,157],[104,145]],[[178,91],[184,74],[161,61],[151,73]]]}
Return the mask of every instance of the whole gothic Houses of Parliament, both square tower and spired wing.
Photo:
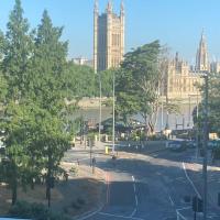
{"label": "whole gothic Houses of Parliament, both square tower and spired wing", "polygon": [[[120,67],[124,55],[124,6],[120,7],[120,14],[113,12],[111,1],[105,13],[99,14],[98,2],[94,8],[94,68],[101,72]],[[191,67],[176,53],[167,61],[161,96],[169,100],[187,100],[189,97],[200,97],[198,85],[202,84],[202,72],[220,72],[219,63],[209,64],[208,46],[202,32],[196,55],[196,66]]]}

